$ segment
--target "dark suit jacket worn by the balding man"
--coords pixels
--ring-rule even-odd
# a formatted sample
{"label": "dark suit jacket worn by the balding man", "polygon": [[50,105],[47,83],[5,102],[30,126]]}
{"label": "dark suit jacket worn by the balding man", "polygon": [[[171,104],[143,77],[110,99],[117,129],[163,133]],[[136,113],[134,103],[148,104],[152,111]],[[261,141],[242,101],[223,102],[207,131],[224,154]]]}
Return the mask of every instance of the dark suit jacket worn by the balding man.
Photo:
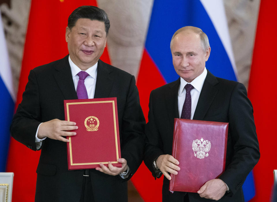
{"label": "dark suit jacket worn by the balding man", "polygon": [[[162,154],[172,154],[174,118],[179,118],[179,85],[180,78],[153,90],[150,95],[144,162],[153,176],[154,159]],[[216,78],[208,71],[193,119],[229,122],[226,168],[220,179],[229,186],[230,192],[220,201],[244,201],[242,184],[260,156],[253,108],[245,87],[238,82]],[[169,124],[164,125],[165,122]],[[162,194],[163,201],[184,200],[184,192],[169,192],[166,178]],[[211,201],[202,199],[197,193],[189,193],[189,199],[190,202]]]}

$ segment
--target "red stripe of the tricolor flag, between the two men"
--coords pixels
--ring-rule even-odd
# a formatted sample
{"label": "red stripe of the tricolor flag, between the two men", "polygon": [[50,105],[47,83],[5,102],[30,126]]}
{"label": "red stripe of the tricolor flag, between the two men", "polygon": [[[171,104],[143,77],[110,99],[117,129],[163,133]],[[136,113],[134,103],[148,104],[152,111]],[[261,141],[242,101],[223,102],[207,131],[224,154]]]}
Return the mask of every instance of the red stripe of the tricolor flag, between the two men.
{"label": "red stripe of the tricolor flag, between the two men", "polygon": [[[139,90],[139,99],[146,122],[148,122],[150,93],[164,84],[166,82],[162,74],[148,52],[144,50],[136,85]],[[131,180],[145,202],[162,201],[163,176],[155,180],[144,163],[141,164]]]}

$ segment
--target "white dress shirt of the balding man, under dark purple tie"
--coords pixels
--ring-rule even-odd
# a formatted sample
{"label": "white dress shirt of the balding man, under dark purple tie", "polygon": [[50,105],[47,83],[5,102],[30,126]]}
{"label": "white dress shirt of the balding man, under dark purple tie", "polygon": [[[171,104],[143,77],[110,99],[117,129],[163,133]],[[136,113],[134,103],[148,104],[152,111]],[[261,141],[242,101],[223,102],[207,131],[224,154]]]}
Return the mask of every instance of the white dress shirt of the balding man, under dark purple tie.
{"label": "white dress shirt of the balding man, under dark purple tie", "polygon": [[190,83],[186,82],[183,78],[180,78],[181,83],[178,91],[179,118],[181,118],[184,101],[186,99],[186,89],[185,89],[186,84],[191,84],[194,87],[190,90],[190,95],[191,95],[190,119],[192,119],[206,76],[207,76],[207,69],[205,67],[204,71]]}

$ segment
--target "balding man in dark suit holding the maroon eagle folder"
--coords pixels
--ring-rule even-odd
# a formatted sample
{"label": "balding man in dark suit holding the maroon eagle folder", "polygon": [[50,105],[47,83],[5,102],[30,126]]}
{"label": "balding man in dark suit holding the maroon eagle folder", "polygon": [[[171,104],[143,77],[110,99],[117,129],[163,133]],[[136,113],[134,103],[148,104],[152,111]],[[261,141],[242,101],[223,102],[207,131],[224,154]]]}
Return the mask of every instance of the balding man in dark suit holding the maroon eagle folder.
{"label": "balding man in dark suit holding the maroon eagle folder", "polygon": [[[260,157],[246,89],[238,82],[215,77],[205,68],[211,48],[201,29],[188,26],[177,30],[170,48],[180,78],[151,92],[144,162],[155,178],[165,176],[163,201],[244,201],[242,184]],[[169,173],[177,175],[178,165],[189,163],[171,156],[174,118],[184,117],[229,122],[225,171],[197,193],[169,192]]]}

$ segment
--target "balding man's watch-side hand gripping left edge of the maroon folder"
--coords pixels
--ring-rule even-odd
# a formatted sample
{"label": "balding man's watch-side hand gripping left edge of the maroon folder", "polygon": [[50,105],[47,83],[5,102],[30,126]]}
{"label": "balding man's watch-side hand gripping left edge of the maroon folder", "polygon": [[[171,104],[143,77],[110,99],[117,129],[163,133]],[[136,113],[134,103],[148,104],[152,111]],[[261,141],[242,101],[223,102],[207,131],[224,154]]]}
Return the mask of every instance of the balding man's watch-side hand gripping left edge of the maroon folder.
{"label": "balding man's watch-side hand gripping left edge of the maroon folder", "polygon": [[156,160],[156,164],[168,180],[171,180],[171,176],[167,172],[177,175],[177,171],[180,170],[180,167],[177,166],[179,161],[169,154],[160,155]]}

